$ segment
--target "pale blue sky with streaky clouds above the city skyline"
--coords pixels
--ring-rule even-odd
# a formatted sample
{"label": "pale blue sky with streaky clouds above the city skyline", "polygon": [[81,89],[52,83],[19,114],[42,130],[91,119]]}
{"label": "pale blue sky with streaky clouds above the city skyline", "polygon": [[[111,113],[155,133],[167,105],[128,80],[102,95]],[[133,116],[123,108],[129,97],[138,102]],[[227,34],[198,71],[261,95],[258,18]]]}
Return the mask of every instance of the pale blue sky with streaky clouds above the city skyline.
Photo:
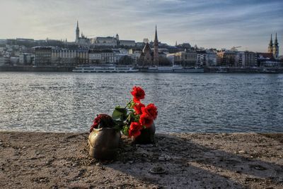
{"label": "pale blue sky with streaky clouds above the city skyline", "polygon": [[282,0],[0,0],[0,6],[0,39],[74,41],[79,20],[88,37],[118,33],[141,42],[154,39],[157,25],[158,39],[168,44],[266,51],[275,32],[283,44]]}

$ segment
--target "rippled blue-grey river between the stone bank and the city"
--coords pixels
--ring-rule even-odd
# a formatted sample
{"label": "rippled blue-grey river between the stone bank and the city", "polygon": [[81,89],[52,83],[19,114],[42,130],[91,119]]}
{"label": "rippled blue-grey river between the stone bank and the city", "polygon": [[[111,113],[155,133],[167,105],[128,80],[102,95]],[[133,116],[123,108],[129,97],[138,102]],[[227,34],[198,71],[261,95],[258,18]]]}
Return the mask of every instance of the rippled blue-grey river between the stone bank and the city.
{"label": "rippled blue-grey river between the stone bank and the city", "polygon": [[0,130],[88,132],[134,85],[166,132],[283,132],[282,74],[0,73]]}

